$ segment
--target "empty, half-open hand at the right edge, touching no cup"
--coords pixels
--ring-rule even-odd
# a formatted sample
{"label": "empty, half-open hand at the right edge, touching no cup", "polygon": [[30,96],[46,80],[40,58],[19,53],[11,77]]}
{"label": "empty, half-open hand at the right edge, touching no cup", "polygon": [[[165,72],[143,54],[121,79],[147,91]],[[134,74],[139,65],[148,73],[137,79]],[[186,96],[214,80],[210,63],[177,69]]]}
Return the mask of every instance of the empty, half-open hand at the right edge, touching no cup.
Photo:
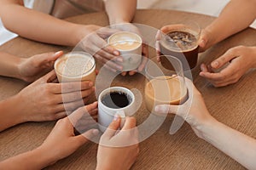
{"label": "empty, half-open hand at the right edge, touching no cup", "polygon": [[[225,54],[212,61],[210,65],[202,64],[200,76],[207,78],[214,87],[224,87],[237,82],[242,75],[255,66],[255,63],[255,47],[230,48]],[[214,72],[221,68],[223,70]]]}

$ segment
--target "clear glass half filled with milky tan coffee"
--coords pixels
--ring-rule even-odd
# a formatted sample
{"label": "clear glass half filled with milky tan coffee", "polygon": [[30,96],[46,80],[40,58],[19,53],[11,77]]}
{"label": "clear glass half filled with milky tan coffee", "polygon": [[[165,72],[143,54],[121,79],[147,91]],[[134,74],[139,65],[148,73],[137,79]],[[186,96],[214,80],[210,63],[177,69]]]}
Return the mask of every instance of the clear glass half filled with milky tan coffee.
{"label": "clear glass half filled with milky tan coffee", "polygon": [[168,69],[156,57],[149,59],[145,67],[144,95],[146,107],[152,113],[155,113],[156,105],[180,105],[187,99],[181,61],[170,55],[165,57],[169,62]]}

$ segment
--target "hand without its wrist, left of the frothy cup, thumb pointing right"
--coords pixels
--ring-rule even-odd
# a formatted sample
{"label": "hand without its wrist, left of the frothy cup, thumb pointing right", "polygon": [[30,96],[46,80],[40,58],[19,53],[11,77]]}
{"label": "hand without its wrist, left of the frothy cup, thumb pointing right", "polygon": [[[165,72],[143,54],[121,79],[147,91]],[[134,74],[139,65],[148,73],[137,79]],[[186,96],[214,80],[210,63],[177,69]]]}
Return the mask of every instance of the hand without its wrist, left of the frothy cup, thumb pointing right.
{"label": "hand without its wrist, left of the frothy cup, thumb pointing right", "polygon": [[33,55],[27,59],[20,59],[18,66],[20,78],[26,82],[34,82],[39,77],[53,69],[56,59],[61,57],[62,51]]}

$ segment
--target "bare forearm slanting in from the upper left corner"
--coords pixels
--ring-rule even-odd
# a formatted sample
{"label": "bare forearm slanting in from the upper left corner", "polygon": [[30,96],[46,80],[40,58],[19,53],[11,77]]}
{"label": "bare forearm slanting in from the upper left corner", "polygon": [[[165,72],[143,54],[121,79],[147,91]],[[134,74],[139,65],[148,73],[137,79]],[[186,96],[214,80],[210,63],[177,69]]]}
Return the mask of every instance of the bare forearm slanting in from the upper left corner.
{"label": "bare forearm slanting in from the upper left corner", "polygon": [[78,25],[73,23],[15,3],[2,5],[0,11],[3,25],[21,37],[67,46],[79,42],[76,30]]}

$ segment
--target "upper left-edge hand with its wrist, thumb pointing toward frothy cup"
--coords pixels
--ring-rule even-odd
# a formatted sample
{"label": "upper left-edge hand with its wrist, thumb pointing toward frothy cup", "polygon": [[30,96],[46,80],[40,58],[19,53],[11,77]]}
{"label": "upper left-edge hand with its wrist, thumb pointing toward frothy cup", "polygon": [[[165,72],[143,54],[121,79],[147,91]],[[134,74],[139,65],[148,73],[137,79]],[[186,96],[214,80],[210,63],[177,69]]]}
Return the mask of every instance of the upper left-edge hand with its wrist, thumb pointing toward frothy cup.
{"label": "upper left-edge hand with its wrist, thumb pointing toward frothy cup", "polygon": [[34,82],[39,77],[53,69],[56,59],[61,57],[62,51],[57,53],[36,54],[29,58],[20,58],[12,54],[0,52],[0,75],[15,77],[26,82]]}

